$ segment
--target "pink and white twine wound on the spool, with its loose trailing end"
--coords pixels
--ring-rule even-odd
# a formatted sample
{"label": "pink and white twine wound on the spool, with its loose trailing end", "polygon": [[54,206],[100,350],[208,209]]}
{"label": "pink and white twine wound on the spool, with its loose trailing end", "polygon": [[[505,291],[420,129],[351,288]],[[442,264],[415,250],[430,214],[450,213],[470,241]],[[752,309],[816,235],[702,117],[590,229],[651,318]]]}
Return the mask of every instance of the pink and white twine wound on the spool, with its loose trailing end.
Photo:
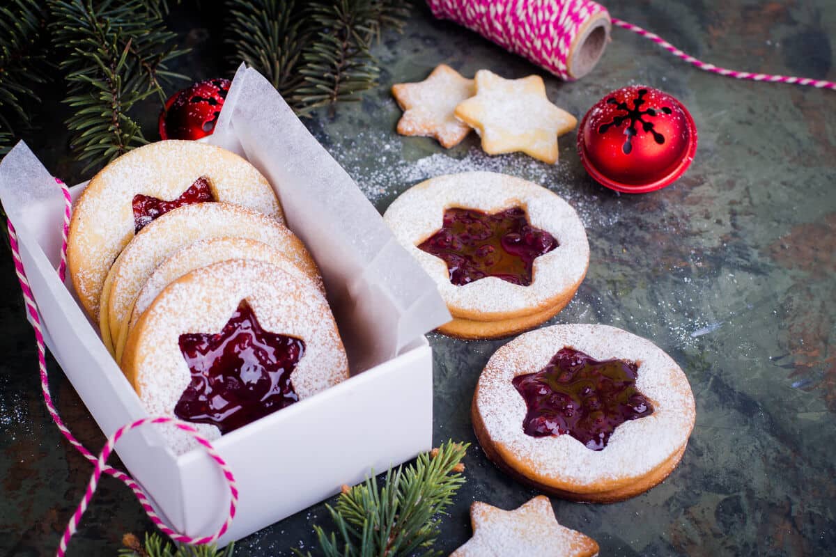
{"label": "pink and white twine wound on the spool, with its loose trailing end", "polygon": [[[427,0],[427,3],[436,18],[460,23],[566,80],[573,79],[568,73],[568,60],[574,39],[590,18],[607,13],[606,8],[592,0]],[[611,20],[614,25],[649,38],[675,57],[706,72],[737,79],[836,90],[836,83],[824,79],[720,68],[682,52],[638,25],[617,18]]]}

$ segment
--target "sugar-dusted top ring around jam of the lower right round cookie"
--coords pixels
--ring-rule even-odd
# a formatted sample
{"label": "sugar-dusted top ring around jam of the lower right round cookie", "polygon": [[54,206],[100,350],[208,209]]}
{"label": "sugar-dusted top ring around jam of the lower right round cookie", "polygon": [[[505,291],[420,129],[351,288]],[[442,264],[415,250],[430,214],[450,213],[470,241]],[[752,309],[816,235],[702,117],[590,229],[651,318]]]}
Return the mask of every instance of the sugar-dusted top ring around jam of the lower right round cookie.
{"label": "sugar-dusted top ring around jam of the lower right round cookie", "polygon": [[[563,347],[598,360],[638,363],[636,387],[653,403],[654,412],[619,425],[600,451],[586,448],[570,435],[534,438],[523,433],[526,404],[512,379],[540,371]],[[512,455],[517,463],[529,463],[534,480],[562,484],[568,491],[573,485],[603,487],[602,482],[650,473],[683,448],[696,413],[688,379],[659,347],[615,327],[579,324],[528,332],[497,350],[479,377],[477,412],[500,453]]]}

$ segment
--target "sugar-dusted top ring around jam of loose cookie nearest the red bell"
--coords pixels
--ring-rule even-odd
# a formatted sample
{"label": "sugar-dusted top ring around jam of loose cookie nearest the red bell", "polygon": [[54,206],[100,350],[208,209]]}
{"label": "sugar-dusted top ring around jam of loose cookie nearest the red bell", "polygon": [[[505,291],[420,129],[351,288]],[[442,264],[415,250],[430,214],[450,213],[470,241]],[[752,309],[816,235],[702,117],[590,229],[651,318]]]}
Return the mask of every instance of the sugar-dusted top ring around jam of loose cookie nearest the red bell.
{"label": "sugar-dusted top ring around jam of loose cookie nearest the red bell", "polygon": [[[444,261],[416,246],[439,230],[444,210],[462,207],[496,213],[522,206],[533,226],[548,231],[559,243],[534,260],[530,286],[489,276],[465,286],[451,283]],[[553,305],[555,297],[576,286],[589,264],[584,225],[558,195],[532,182],[492,172],[443,175],[415,185],[395,200],[384,215],[386,224],[407,251],[436,281],[441,297],[460,312],[512,313]]]}

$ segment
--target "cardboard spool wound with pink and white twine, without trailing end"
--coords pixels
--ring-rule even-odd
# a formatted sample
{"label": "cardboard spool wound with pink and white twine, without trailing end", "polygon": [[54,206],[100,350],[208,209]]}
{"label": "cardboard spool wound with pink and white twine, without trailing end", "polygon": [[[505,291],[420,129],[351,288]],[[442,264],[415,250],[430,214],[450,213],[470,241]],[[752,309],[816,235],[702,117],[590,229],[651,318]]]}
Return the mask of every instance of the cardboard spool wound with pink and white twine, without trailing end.
{"label": "cardboard spool wound with pink and white twine, without trailing end", "polygon": [[590,0],[427,0],[450,19],[573,80],[592,71],[609,42],[607,8]]}

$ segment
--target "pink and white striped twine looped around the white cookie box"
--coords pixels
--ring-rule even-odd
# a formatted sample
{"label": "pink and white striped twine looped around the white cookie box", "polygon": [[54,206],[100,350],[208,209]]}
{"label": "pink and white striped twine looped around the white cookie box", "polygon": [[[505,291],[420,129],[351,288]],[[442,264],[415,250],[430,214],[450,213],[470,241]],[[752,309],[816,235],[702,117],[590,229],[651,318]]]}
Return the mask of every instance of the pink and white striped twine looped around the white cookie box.
{"label": "pink and white striped twine looped around the white cookie box", "polygon": [[[64,182],[58,180],[57,178],[55,181],[61,186],[61,190],[64,192],[64,226],[62,229],[62,245],[61,245],[61,263],[58,268],[59,277],[62,281],[67,273],[67,235],[69,233],[69,217],[70,217],[70,210],[72,207],[72,198],[69,195],[69,189]],[[235,518],[235,509],[237,508],[238,503],[238,489],[235,483],[235,476],[232,474],[232,470],[229,469],[227,466],[226,461],[218,454],[215,448],[212,447],[212,443],[210,443],[206,438],[203,438],[197,430],[193,428],[190,424],[181,422],[175,418],[169,418],[166,416],[161,416],[157,418],[142,418],[140,420],[136,420],[133,423],[128,423],[125,426],[117,429],[113,435],[108,438],[107,443],[104,443],[104,448],[102,448],[101,453],[99,456],[94,456],[93,453],[90,453],[87,448],[82,445],[78,439],[76,439],[69,431],[69,428],[64,424],[64,421],[61,419],[58,413],[58,409],[55,408],[55,404],[53,403],[52,395],[49,393],[49,377],[47,374],[47,361],[46,361],[46,345],[43,341],[43,331],[41,329],[41,317],[38,313],[38,305],[35,302],[34,294],[32,288],[29,286],[29,281],[26,278],[26,271],[23,269],[23,260],[20,257],[20,247],[18,246],[18,235],[15,233],[14,226],[12,225],[11,220],[7,222],[8,225],[8,238],[9,244],[12,247],[12,256],[14,259],[14,270],[18,275],[18,281],[20,282],[20,289],[23,291],[23,301],[26,305],[26,311],[31,318],[32,327],[35,331],[35,341],[38,344],[38,367],[40,369],[40,378],[41,378],[41,391],[43,392],[43,401],[46,403],[47,410],[49,415],[53,418],[55,425],[58,426],[61,433],[64,434],[64,437],[67,438],[69,443],[76,448],[79,453],[81,453],[84,458],[87,458],[90,463],[94,464],[93,468],[93,475],[90,478],[90,482],[87,486],[86,491],[84,492],[84,498],[81,499],[79,506],[75,509],[73,516],[69,519],[69,523],[67,524],[67,528],[64,529],[64,534],[61,536],[61,541],[59,543],[58,550],[56,551],[56,555],[58,557],[64,557],[64,554],[67,551],[67,544],[69,539],[73,537],[75,534],[76,529],[79,526],[79,522],[81,521],[81,517],[84,514],[84,511],[87,510],[87,506],[90,502],[90,499],[93,499],[93,494],[96,490],[97,485],[99,484],[99,479],[101,478],[102,473],[107,473],[113,476],[116,479],[121,480],[125,485],[127,485],[131,491],[134,492],[136,495],[136,499],[139,499],[140,505],[142,509],[145,510],[145,513],[148,514],[148,518],[150,518],[151,522],[155,524],[157,528],[159,528],[164,534],[169,536],[171,539],[174,539],[177,542],[181,542],[184,544],[210,544],[220,538],[224,533],[226,533],[227,529],[229,529],[229,525],[232,524],[232,519]],[[176,428],[180,428],[186,433],[191,433],[191,436],[194,437],[197,443],[200,443],[203,448],[206,449],[206,453],[209,453],[209,456],[215,460],[218,466],[222,469],[224,477],[227,479],[227,483],[229,484],[229,491],[231,494],[231,500],[229,505],[229,514],[227,519],[222,524],[221,528],[217,530],[215,534],[212,536],[206,536],[203,538],[192,538],[191,536],[186,536],[183,534],[179,534],[175,530],[171,529],[166,523],[162,521],[160,516],[155,513],[154,508],[150,504],[150,500],[145,495],[145,492],[142,491],[140,485],[137,484],[133,478],[131,478],[127,473],[122,472],[116,468],[109,466],[106,462],[110,453],[113,451],[115,444],[119,441],[119,439],[125,434],[128,433],[131,429],[140,428],[141,426],[148,424],[148,423],[171,423]]]}

